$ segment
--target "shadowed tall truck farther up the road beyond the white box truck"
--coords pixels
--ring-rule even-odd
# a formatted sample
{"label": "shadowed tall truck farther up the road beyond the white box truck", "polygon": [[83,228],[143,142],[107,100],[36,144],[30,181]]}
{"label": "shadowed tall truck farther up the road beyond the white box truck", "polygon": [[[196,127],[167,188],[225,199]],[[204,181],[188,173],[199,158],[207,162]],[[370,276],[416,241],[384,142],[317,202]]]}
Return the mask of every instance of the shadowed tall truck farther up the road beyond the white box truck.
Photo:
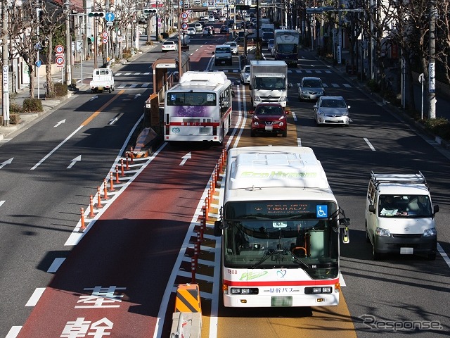
{"label": "shadowed tall truck farther up the road beyond the white box truck", "polygon": [[300,32],[297,32],[297,30],[275,30],[275,60],[285,61],[297,66],[299,46]]}

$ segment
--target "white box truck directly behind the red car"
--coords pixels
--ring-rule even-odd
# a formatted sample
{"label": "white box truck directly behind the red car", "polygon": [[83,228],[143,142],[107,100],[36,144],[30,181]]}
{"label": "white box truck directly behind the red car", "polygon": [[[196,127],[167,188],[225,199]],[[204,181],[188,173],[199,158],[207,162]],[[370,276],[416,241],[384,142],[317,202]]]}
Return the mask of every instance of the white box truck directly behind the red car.
{"label": "white box truck directly behind the red car", "polygon": [[250,94],[252,105],[262,102],[286,106],[288,65],[284,61],[250,61]]}

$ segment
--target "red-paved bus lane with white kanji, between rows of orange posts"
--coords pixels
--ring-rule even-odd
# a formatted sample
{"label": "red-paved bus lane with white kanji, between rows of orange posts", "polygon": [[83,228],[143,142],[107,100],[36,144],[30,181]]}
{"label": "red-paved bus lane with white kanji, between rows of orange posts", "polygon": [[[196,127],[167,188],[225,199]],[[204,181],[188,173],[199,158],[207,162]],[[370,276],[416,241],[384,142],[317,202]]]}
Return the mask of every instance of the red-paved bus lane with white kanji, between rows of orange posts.
{"label": "red-paved bus lane with white kanji, between rows of orange posts", "polygon": [[[18,337],[153,337],[167,281],[221,148],[190,151],[188,161],[186,152],[163,149],[96,220]],[[173,296],[162,337],[169,337]]]}

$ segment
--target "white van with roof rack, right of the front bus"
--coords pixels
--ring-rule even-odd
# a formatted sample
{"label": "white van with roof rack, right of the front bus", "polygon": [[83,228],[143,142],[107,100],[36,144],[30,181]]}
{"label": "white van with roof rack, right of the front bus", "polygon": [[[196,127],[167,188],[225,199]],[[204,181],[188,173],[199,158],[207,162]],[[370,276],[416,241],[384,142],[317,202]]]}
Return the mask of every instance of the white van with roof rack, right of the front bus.
{"label": "white van with roof rack, right of the front bus", "polygon": [[425,253],[434,260],[438,211],[422,173],[372,172],[366,197],[366,240],[372,244],[373,259],[385,253]]}

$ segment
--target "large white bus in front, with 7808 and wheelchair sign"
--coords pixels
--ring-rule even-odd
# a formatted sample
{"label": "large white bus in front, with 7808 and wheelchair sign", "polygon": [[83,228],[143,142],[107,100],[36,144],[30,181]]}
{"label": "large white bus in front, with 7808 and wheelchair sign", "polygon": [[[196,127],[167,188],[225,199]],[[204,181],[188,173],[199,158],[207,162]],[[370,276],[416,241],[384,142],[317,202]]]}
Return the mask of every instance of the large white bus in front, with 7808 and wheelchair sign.
{"label": "large white bus in front, with 7808 and wheelchair sign", "polygon": [[224,180],[214,224],[224,306],[338,305],[349,219],[312,149],[230,149]]}

